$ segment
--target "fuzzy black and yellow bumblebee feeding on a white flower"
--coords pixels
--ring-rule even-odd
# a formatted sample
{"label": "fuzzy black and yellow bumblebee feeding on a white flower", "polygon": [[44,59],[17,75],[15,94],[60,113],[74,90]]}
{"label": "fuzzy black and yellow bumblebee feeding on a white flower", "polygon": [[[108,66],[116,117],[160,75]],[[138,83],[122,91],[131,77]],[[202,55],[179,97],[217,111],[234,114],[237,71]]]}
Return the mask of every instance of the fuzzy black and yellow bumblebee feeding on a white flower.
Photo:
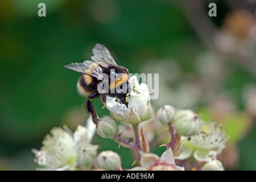
{"label": "fuzzy black and yellow bumblebee feeding on a white flower", "polygon": [[127,106],[126,97],[133,88],[129,86],[128,69],[117,65],[105,46],[96,44],[91,59],[93,61],[71,63],[64,65],[64,67],[81,73],[77,82],[77,90],[82,96],[88,96],[85,101],[85,108],[92,115],[94,124],[97,124],[97,114],[90,100],[100,97],[103,104],[102,109],[104,109],[106,96],[110,96],[114,97],[120,104]]}

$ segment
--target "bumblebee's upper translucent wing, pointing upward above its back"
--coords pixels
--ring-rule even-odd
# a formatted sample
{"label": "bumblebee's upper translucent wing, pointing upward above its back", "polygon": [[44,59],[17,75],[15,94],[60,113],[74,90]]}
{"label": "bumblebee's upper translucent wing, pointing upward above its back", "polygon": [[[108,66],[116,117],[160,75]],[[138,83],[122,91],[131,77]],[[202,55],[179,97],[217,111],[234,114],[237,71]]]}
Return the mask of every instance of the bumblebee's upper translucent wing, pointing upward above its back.
{"label": "bumblebee's upper translucent wing, pointing upward above its back", "polygon": [[117,65],[109,50],[102,44],[96,44],[94,46],[92,60],[100,63],[102,67],[108,67],[109,64]]}

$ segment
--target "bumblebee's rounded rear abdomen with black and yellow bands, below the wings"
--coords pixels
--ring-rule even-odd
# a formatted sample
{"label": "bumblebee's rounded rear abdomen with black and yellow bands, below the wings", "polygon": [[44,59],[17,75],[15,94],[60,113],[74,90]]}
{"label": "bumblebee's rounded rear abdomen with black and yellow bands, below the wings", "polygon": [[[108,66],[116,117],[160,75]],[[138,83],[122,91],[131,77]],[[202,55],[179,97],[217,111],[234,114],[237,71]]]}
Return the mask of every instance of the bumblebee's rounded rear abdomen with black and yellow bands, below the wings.
{"label": "bumblebee's rounded rear abdomen with black and yellow bands, below the wings", "polygon": [[82,96],[89,96],[97,90],[97,78],[89,75],[81,75],[77,82],[77,91]]}

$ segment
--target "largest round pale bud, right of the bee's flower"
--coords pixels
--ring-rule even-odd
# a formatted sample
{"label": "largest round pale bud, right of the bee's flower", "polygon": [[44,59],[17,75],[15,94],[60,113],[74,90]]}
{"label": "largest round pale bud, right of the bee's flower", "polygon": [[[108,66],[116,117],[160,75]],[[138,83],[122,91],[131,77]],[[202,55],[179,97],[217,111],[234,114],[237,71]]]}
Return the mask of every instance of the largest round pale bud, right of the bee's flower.
{"label": "largest round pale bud, right of the bee's flower", "polygon": [[182,136],[195,135],[201,129],[198,116],[191,110],[178,110],[175,114],[173,125],[177,134]]}

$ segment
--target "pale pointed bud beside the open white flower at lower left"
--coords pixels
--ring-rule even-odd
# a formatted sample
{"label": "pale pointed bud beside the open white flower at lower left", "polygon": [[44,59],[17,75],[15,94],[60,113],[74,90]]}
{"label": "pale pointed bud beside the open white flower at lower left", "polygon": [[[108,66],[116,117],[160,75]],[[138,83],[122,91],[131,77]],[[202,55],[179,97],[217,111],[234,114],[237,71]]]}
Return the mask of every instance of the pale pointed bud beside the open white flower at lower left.
{"label": "pale pointed bud beside the open white flower at lower left", "polygon": [[97,156],[98,146],[90,144],[77,150],[76,162],[80,167],[88,168],[92,166]]}

